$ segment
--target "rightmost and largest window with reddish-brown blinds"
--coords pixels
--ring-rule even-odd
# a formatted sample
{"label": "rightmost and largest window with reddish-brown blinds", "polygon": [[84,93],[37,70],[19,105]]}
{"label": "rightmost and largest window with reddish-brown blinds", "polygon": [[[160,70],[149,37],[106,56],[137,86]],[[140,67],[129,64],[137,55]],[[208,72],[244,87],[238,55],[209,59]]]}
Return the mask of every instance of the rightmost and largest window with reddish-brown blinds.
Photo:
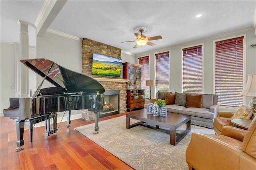
{"label": "rightmost and largest window with reddish-brown blinds", "polygon": [[244,37],[215,42],[215,94],[218,105],[240,107]]}

